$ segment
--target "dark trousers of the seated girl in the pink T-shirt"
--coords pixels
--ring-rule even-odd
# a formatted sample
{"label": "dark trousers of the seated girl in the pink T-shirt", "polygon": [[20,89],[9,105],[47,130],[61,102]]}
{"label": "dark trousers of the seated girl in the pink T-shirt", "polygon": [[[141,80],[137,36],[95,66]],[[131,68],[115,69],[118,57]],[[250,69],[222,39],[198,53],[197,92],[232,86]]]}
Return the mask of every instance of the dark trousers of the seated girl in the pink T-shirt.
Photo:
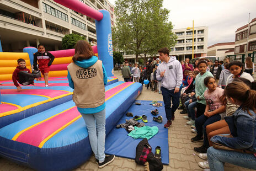
{"label": "dark trousers of the seated girl in the pink T-shirt", "polygon": [[196,127],[196,132],[198,133],[198,136],[204,135],[204,146],[209,147],[209,142],[207,138],[207,133],[206,133],[206,126],[210,125],[214,122],[217,122],[221,120],[221,115],[220,114],[215,114],[213,116],[207,117],[204,114],[196,118],[195,120],[195,127]]}

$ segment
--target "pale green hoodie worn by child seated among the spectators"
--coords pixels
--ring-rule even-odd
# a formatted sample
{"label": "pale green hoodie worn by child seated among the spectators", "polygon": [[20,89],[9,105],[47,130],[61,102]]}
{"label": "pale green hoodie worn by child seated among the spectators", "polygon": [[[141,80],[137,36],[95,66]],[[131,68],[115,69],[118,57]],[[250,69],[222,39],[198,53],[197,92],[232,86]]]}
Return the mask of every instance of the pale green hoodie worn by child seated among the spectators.
{"label": "pale green hoodie worn by child seated among the spectators", "polygon": [[201,103],[201,104],[205,104],[205,105],[206,105],[206,101],[205,101],[205,97],[204,97],[204,92],[205,92],[207,87],[204,84],[204,79],[206,77],[214,77],[214,76],[212,75],[211,72],[206,71],[204,74],[201,75],[199,73],[195,77],[195,97],[200,98],[200,100],[196,100],[196,102]]}

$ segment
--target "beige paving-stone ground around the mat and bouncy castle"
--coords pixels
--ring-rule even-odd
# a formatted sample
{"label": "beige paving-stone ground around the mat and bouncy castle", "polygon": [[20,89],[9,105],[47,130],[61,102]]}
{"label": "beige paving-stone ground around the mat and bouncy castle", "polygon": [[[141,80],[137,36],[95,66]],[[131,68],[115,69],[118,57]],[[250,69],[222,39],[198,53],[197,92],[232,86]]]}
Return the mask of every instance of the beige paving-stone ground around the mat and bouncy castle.
{"label": "beige paving-stone ground around the mat and bouncy castle", "polygon": [[[115,76],[123,81],[121,78],[121,72],[115,71]],[[137,100],[163,100],[162,95],[152,92],[150,89],[143,87],[142,94]],[[162,114],[164,115],[164,114]],[[193,143],[190,141],[191,137],[195,136],[195,133],[190,131],[190,126],[186,125],[185,119],[183,119],[182,114],[179,114],[179,110],[176,111],[175,120],[172,126],[169,128],[169,165],[164,165],[163,170],[203,170],[198,166],[198,162],[203,160],[196,156],[196,152],[193,151],[194,147],[199,147],[202,142]],[[10,161],[7,159],[0,158],[0,171],[28,171],[33,170],[28,167],[24,167]],[[99,169],[94,157],[90,157],[89,161],[82,164],[79,168],[74,169],[75,171],[80,170],[100,170],[100,171],[110,171],[110,170],[144,170],[142,165],[137,165],[134,160],[116,157],[115,161],[106,167]],[[237,167],[235,165],[226,164],[226,171],[245,171],[250,169],[245,169]]]}

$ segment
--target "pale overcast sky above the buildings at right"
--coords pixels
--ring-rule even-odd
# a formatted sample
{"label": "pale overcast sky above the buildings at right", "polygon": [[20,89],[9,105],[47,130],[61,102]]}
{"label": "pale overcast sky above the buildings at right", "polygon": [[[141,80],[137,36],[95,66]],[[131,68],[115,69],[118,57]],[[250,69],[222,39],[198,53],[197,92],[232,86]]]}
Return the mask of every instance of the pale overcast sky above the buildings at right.
{"label": "pale overcast sky above the buildings at right", "polygon": [[[115,0],[109,0],[115,4]],[[164,0],[174,29],[208,26],[208,46],[234,41],[234,32],[256,18],[256,0]]]}

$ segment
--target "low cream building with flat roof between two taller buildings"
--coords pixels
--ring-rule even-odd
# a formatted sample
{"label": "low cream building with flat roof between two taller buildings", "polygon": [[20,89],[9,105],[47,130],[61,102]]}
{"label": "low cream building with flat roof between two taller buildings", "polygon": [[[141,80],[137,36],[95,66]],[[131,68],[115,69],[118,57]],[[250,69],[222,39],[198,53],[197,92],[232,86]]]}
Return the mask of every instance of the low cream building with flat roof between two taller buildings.
{"label": "low cream building with flat roof between two taller buildings", "polygon": [[223,61],[226,57],[225,55],[227,55],[225,53],[228,52],[228,55],[231,55],[233,51],[234,42],[222,42],[209,46],[207,56],[216,56],[218,60]]}

